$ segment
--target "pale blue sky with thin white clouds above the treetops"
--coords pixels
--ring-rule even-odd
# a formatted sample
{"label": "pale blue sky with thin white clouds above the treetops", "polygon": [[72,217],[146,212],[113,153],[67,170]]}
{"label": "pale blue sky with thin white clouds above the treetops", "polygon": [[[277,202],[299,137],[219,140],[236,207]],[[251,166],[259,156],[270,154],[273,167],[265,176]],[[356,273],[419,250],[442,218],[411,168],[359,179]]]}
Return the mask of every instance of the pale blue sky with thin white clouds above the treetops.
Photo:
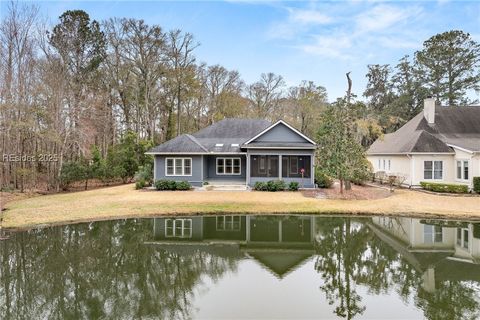
{"label": "pale blue sky with thin white clouds above the treetops", "polygon": [[[480,1],[38,4],[52,25],[65,10],[83,9],[97,20],[130,17],[165,30],[179,28],[200,42],[199,61],[236,69],[247,83],[256,81],[262,72],[281,74],[289,86],[312,80],[327,88],[332,101],[345,92],[346,72],[352,72],[353,89],[360,96],[368,64],[396,65],[436,33],[461,29],[480,41]],[[6,5],[0,0],[0,14]]]}

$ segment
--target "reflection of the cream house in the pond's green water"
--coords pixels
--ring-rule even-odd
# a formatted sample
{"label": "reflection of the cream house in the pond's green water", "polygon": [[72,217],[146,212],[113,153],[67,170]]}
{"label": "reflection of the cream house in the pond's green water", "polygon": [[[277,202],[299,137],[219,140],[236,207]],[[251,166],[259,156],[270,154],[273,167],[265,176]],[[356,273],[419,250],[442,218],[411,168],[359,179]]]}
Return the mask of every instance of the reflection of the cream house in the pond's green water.
{"label": "reflection of the cream house in the pond's green water", "polygon": [[446,280],[480,282],[480,224],[375,217],[369,227],[418,271],[423,287]]}

